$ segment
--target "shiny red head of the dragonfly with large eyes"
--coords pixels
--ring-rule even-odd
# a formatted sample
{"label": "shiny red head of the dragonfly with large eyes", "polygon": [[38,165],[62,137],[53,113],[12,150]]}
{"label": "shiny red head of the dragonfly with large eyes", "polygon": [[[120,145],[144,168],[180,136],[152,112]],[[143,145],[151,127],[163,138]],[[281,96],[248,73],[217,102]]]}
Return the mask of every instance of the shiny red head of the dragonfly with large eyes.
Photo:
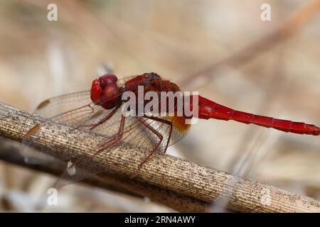
{"label": "shiny red head of the dragonfly with large eyes", "polygon": [[104,74],[92,82],[91,100],[105,109],[112,109],[121,100],[121,90],[114,74]]}

